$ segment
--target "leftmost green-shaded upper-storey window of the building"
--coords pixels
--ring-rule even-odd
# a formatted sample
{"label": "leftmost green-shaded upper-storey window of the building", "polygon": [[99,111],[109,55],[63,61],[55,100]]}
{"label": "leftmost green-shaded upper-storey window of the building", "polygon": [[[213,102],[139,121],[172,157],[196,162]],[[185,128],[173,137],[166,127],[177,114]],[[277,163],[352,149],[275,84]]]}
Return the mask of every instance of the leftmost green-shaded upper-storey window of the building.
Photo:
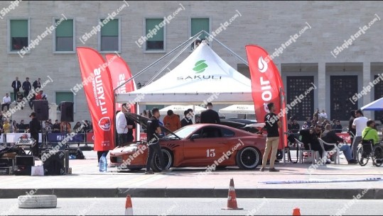
{"label": "leftmost green-shaded upper-storey window of the building", "polygon": [[19,51],[23,47],[28,47],[28,19],[10,20],[11,25],[11,51]]}

